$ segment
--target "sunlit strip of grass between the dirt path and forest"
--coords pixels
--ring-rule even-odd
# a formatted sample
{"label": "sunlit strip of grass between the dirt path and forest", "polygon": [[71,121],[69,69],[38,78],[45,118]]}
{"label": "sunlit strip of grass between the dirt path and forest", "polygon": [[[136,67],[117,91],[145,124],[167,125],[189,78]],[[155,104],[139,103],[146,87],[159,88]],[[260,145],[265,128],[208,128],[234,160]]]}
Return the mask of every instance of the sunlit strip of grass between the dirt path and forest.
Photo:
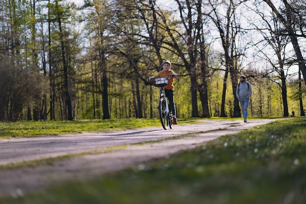
{"label": "sunlit strip of grass between the dirt path and forest", "polygon": [[[197,122],[197,119],[180,119],[179,122],[180,124],[190,124]],[[0,122],[0,139],[102,132],[155,126],[161,126],[159,119]]]}

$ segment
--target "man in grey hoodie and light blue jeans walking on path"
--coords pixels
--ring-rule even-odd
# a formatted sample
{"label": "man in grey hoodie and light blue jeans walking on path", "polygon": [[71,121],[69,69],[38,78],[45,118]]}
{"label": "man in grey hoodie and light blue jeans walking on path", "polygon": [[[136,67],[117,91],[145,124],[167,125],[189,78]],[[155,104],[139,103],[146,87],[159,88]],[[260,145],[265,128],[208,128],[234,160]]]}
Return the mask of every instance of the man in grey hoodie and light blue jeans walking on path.
{"label": "man in grey hoodie and light blue jeans walking on path", "polygon": [[237,85],[236,96],[240,102],[241,112],[243,115],[244,122],[247,117],[247,107],[249,106],[249,98],[252,95],[252,87],[246,81],[245,76],[240,76],[240,83]]}

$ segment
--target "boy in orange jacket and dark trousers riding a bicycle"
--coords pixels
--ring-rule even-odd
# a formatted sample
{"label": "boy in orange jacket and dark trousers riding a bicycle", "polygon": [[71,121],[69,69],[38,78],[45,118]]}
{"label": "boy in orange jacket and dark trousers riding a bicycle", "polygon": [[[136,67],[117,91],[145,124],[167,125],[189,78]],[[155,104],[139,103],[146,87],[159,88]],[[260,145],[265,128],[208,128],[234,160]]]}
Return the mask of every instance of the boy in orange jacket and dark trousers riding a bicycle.
{"label": "boy in orange jacket and dark trousers riding a bicycle", "polygon": [[[166,77],[169,75],[175,75],[175,78],[178,78],[178,74],[175,73],[172,69],[171,69],[171,62],[170,61],[165,61],[162,64],[163,70],[159,71],[155,76],[149,77],[149,80],[151,80],[153,77]],[[177,124],[177,120],[176,120],[176,114],[175,114],[175,103],[174,103],[174,93],[173,93],[173,78],[170,77],[169,78],[169,84],[167,86],[165,86],[165,95],[169,100],[169,105],[170,105],[170,109],[173,113],[173,124]]]}

